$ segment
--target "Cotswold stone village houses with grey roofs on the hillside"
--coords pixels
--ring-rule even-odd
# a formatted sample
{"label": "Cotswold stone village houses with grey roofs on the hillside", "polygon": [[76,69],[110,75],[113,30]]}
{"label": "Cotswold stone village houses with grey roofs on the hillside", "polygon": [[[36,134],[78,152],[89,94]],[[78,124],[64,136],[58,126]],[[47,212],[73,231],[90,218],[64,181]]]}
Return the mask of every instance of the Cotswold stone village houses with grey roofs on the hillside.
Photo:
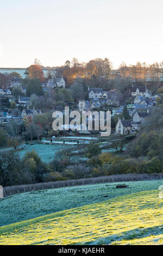
{"label": "Cotswold stone village houses with grey roofs on the hillside", "polygon": [[[52,78],[46,79],[41,84],[42,92],[44,95],[50,95],[53,93],[54,88],[65,89],[65,84],[63,76],[60,78],[53,76]],[[22,86],[21,77],[12,77],[8,84],[5,85],[5,89],[3,87],[4,86],[0,89],[1,125],[5,125],[12,120],[20,126],[24,124],[25,118],[32,118],[34,115],[45,113],[45,109],[35,109],[35,106],[32,104],[32,97],[26,94],[27,86]],[[66,102],[65,105],[71,106],[72,109],[79,110],[80,112],[101,111],[103,109],[110,110],[111,117],[116,119],[115,128],[112,129],[111,132],[121,135],[129,135],[138,132],[142,121],[151,115],[152,109],[156,105],[156,99],[160,99],[159,95],[153,95],[152,92],[147,89],[147,85],[140,86],[139,83],[136,85],[134,82],[131,88],[129,88],[130,93],[128,99],[124,98],[116,89],[106,91],[103,90],[103,88],[90,88],[89,86],[87,86],[86,89],[86,100],[80,99],[79,96],[78,101]],[[65,90],[73,96],[71,88]],[[15,95],[13,94],[14,92],[16,93]],[[123,116],[124,107],[127,107],[128,119]],[[58,106],[56,106],[56,109],[58,109]],[[52,110],[55,111],[55,107],[52,107],[51,111]],[[63,106],[60,106],[60,110],[64,114]],[[26,130],[25,126],[23,131],[24,130]]]}

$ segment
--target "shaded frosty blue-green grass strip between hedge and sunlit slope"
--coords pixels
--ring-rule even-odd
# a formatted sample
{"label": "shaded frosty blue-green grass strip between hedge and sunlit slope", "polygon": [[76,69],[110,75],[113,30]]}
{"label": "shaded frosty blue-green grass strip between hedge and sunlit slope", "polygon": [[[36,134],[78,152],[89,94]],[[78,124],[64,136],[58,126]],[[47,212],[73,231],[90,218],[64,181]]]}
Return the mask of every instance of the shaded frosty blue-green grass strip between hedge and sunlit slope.
{"label": "shaded frosty blue-green grass strip between hedge and sunlit slope", "polygon": [[140,191],[158,190],[163,180],[124,183],[129,187],[117,189],[119,182],[15,194],[0,200],[0,226]]}

